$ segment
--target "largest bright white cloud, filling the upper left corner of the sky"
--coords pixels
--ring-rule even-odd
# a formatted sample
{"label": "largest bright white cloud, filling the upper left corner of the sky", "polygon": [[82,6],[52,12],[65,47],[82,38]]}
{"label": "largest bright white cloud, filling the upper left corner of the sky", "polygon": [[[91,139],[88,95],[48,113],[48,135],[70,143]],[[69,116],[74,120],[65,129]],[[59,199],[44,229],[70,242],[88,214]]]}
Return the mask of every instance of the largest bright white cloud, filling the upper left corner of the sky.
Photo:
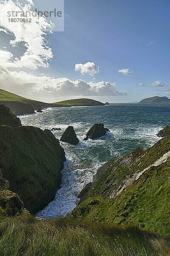
{"label": "largest bright white cloud, filling the upper left corner of the sky", "polygon": [[[0,32],[11,35],[10,44],[17,47],[20,43],[25,46],[26,51],[19,58],[13,58],[13,54],[1,49],[1,55],[5,56],[4,67],[22,68],[48,67],[48,60],[53,57],[51,48],[45,41],[47,32],[51,32],[52,24],[45,17],[39,17],[35,12],[31,15],[31,22],[9,22],[8,13],[14,12],[17,18],[23,18],[22,13],[33,13],[31,0],[6,0],[0,1]],[[28,16],[29,17],[29,16]],[[2,56],[1,56],[2,58]]]}

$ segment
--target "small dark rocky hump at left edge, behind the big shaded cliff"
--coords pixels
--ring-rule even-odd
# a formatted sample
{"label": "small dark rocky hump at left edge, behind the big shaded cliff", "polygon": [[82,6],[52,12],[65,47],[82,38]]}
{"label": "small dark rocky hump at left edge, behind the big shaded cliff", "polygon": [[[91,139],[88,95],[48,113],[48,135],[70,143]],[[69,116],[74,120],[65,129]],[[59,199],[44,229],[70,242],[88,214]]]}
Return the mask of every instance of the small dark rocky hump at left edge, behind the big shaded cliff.
{"label": "small dark rocky hump at left edge, behind the big shaded cliff", "polygon": [[22,126],[20,119],[5,105],[0,105],[0,125]]}

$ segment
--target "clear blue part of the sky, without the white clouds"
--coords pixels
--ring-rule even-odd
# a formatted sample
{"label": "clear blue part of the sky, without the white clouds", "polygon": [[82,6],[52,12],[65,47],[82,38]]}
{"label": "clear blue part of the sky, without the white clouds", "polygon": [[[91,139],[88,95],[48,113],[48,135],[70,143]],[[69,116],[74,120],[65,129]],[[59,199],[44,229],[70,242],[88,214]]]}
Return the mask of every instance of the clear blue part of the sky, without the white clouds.
{"label": "clear blue part of the sky, without the white clouds", "polygon": [[[65,31],[48,35],[54,55],[50,67],[39,67],[32,73],[116,83],[122,95],[76,95],[104,102],[170,96],[169,14],[169,0],[65,0]],[[99,73],[89,76],[74,70],[75,64],[87,62],[99,66]],[[122,69],[133,72],[119,73]],[[55,97],[69,99],[74,95]]]}

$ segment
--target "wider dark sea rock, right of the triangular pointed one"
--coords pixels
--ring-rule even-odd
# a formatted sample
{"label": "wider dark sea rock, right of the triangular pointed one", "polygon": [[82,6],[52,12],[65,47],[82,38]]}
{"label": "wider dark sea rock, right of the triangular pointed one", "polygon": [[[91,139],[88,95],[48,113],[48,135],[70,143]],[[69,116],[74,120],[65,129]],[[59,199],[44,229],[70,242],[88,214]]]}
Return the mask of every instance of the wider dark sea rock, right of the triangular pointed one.
{"label": "wider dark sea rock, right of the triangular pointed one", "polygon": [[84,140],[95,140],[98,139],[106,134],[106,132],[109,131],[109,129],[104,128],[104,124],[95,124],[91,127],[91,129],[86,134],[86,137]]}

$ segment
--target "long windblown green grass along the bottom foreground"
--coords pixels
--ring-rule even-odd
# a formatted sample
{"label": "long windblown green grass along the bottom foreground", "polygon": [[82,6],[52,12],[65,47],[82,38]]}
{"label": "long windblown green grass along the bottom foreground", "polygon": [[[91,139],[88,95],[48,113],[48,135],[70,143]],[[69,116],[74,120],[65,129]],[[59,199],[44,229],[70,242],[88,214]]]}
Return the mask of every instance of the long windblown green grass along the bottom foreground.
{"label": "long windblown green grass along the bottom foreground", "polygon": [[136,227],[28,215],[0,221],[2,256],[166,256],[168,244],[168,238]]}

